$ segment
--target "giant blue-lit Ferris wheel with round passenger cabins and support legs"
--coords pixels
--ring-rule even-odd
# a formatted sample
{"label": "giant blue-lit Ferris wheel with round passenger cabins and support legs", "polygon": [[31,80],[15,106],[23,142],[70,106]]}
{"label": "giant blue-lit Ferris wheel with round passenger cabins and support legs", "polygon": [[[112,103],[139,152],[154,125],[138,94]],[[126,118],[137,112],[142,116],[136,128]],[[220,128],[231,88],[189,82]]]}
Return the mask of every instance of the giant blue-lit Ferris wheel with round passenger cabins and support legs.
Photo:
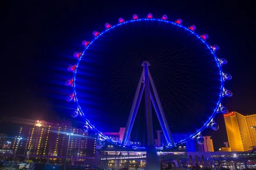
{"label": "giant blue-lit Ferris wheel with round passenger cabins and support legs", "polygon": [[[166,147],[190,139],[203,144],[201,132],[207,127],[218,130],[213,118],[228,112],[221,101],[233,95],[224,88],[224,81],[232,76],[222,71],[227,60],[216,56],[218,45],[208,45],[209,36],[198,35],[195,29],[195,25],[183,26],[180,18],[172,22],[166,15],[158,19],[134,14],[131,20],[120,17],[116,25],[106,23],[104,31],[93,31],[93,40],[84,40],[82,52],[74,53],[76,64],[68,66],[73,78],[65,85],[72,86],[73,93],[67,101],[76,103],[72,117],[84,119],[83,130],[94,130],[97,143],[128,146],[137,113],[143,112],[148,142],[158,120]],[[141,105],[145,107],[140,109]],[[121,142],[98,130],[101,124],[127,120]],[[174,141],[172,132],[179,130],[189,135]]]}

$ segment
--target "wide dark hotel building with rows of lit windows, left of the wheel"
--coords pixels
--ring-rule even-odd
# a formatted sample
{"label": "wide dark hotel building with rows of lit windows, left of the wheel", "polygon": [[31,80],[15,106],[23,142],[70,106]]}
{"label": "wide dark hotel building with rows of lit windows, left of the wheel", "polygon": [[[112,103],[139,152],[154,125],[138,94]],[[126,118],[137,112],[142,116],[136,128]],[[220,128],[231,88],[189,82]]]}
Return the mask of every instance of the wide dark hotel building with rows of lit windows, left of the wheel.
{"label": "wide dark hotel building with rows of lit windows, left of the wheel", "polygon": [[[17,149],[17,138],[20,137],[22,139]],[[69,159],[79,156],[79,161],[83,161],[95,157],[96,134],[93,131],[85,133],[81,128],[72,127],[69,121],[35,121],[32,127],[27,125],[20,127],[12,149],[17,150],[17,154],[60,162],[61,158],[63,161],[66,157],[68,149]]]}

